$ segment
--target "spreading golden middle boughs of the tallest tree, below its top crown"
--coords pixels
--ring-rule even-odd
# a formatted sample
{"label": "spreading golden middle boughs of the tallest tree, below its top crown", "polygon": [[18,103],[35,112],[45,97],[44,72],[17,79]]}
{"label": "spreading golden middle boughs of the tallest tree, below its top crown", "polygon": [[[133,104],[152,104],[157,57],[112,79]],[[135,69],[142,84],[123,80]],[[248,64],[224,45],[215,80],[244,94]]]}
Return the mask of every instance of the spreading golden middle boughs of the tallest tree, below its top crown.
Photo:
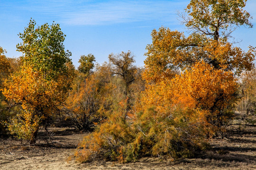
{"label": "spreading golden middle boughs of the tallest tree, below its top crown", "polygon": [[200,34],[185,37],[183,33],[165,27],[153,30],[151,35],[152,44],[146,47],[144,61],[144,78],[148,81],[173,77],[179,70],[191,68],[201,60],[216,69],[233,71],[235,75],[254,66],[253,47],[245,52],[226,40],[215,41]]}

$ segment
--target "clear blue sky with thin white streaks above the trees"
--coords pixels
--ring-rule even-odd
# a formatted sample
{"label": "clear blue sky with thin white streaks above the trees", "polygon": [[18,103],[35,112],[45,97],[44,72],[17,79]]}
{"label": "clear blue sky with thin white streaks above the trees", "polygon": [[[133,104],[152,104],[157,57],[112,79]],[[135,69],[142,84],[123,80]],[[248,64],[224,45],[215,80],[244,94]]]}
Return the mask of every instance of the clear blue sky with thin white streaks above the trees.
{"label": "clear blue sky with thin white streaks above the trees", "polygon": [[[190,0],[0,0],[0,46],[6,56],[18,57],[18,34],[30,18],[38,25],[60,24],[66,34],[65,49],[72,52],[73,64],[81,55],[92,53],[98,63],[108,60],[110,53],[132,51],[136,63],[143,66],[151,31],[161,26],[186,32],[177,11],[183,11]],[[256,0],[248,0],[245,8],[255,25],[240,27],[232,35],[243,50],[256,46]]]}

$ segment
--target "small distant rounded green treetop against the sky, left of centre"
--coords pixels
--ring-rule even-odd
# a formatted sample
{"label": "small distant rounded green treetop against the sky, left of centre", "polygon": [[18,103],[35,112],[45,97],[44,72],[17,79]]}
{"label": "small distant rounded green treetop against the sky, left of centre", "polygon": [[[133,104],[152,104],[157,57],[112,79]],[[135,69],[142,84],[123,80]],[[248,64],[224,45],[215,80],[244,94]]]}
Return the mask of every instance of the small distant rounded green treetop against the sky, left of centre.
{"label": "small distant rounded green treetop against the sky, left of centre", "polygon": [[95,62],[95,57],[92,54],[88,54],[87,56],[82,55],[78,62],[80,63],[78,70],[85,75],[89,75],[91,69],[94,67],[93,62]]}

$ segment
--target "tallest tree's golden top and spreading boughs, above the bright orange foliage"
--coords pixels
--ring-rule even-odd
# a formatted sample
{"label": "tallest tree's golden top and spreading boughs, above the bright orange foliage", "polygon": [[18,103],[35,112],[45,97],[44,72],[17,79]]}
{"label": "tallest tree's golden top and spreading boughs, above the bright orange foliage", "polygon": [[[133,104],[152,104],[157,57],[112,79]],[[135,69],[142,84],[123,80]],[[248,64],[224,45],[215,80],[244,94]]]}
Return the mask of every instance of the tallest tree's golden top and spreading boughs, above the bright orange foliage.
{"label": "tallest tree's golden top and spreading boughs, above the bright orange foliage", "polygon": [[174,76],[177,69],[191,67],[201,59],[214,68],[238,74],[242,70],[250,70],[255,49],[249,47],[245,52],[227,41],[238,26],[252,27],[250,14],[243,10],[246,1],[191,0],[185,9],[188,17],[180,17],[192,34],[185,37],[183,33],[165,27],[159,28],[158,32],[153,30],[152,44],[146,47],[145,78],[157,80]]}

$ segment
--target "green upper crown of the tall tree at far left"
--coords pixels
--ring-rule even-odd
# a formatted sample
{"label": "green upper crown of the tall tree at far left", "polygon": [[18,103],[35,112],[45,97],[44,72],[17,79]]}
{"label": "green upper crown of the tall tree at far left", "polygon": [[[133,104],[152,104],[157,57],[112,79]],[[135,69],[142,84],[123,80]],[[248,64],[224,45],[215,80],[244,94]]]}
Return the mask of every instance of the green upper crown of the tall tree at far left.
{"label": "green upper crown of the tall tree at far left", "polygon": [[65,34],[60,25],[55,22],[36,26],[35,20],[30,20],[23,33],[19,33],[22,42],[17,49],[24,55],[25,67],[40,71],[46,77],[53,78],[66,72],[66,63],[70,62],[70,51],[64,50]]}

